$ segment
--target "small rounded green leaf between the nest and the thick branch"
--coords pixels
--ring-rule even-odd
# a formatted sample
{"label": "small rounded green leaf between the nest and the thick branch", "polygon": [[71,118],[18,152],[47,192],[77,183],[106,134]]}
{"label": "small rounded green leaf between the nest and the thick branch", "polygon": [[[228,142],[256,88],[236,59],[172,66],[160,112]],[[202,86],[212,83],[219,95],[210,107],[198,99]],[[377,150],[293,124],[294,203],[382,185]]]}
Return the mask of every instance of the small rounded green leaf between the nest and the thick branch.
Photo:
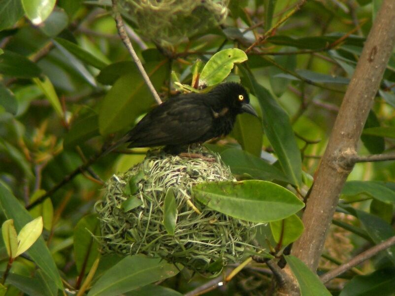
{"label": "small rounded green leaf between the nest and the thick branch", "polygon": [[303,233],[304,226],[298,216],[291,215],[283,220],[270,222],[270,229],[274,240],[281,245],[287,246],[294,242]]}

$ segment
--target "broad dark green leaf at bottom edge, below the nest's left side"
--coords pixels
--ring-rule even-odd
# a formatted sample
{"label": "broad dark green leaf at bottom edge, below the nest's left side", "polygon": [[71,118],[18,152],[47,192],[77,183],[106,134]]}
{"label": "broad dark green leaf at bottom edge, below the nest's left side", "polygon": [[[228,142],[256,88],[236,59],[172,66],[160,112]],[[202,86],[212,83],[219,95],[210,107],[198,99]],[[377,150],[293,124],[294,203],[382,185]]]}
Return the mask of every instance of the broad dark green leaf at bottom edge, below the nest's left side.
{"label": "broad dark green leaf at bottom edge, below the nest's left side", "polygon": [[129,292],[178,273],[173,264],[161,258],[127,256],[109,268],[89,291],[88,296],[115,296]]}

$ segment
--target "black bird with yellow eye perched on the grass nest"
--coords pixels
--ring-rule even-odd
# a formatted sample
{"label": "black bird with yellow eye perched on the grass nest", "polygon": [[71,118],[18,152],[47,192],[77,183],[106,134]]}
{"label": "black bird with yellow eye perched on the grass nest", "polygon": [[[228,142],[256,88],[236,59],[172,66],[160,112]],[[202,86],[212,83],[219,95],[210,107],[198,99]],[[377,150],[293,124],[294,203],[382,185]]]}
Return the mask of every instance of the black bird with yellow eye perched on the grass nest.
{"label": "black bird with yellow eye perched on the grass nest", "polygon": [[168,151],[177,151],[180,146],[225,136],[238,114],[258,116],[249,102],[247,91],[234,82],[222,83],[207,93],[171,97],[108,150],[128,142],[128,148],[166,146]]}

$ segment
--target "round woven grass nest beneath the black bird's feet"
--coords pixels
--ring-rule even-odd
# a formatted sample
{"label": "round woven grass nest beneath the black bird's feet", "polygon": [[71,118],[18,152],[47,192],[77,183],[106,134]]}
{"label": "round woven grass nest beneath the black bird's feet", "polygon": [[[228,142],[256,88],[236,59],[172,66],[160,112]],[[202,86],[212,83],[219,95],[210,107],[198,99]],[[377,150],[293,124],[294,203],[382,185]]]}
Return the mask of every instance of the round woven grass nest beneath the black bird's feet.
{"label": "round woven grass nest beneath the black bird's feet", "polygon": [[[151,152],[128,172],[107,181],[103,199],[95,206],[103,253],[160,256],[210,276],[228,263],[240,262],[247,252],[255,252],[256,224],[205,207],[192,196],[191,187],[199,182],[234,180],[229,168],[218,154],[202,148],[190,152],[211,159]],[[136,190],[128,189],[131,183]],[[178,212],[174,235],[163,222],[170,188]],[[138,206],[125,210],[122,205],[130,198]]]}

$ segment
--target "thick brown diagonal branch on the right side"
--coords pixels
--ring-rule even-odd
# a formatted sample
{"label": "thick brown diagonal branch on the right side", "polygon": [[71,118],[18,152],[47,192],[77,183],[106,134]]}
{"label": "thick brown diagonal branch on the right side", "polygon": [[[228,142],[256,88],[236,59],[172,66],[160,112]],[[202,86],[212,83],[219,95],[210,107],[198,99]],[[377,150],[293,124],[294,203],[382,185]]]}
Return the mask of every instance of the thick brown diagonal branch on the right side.
{"label": "thick brown diagonal branch on the right side", "polygon": [[329,143],[303,213],[305,231],[292,254],[317,269],[344,182],[352,170],[363,125],[395,43],[395,1],[384,0],[336,118]]}

